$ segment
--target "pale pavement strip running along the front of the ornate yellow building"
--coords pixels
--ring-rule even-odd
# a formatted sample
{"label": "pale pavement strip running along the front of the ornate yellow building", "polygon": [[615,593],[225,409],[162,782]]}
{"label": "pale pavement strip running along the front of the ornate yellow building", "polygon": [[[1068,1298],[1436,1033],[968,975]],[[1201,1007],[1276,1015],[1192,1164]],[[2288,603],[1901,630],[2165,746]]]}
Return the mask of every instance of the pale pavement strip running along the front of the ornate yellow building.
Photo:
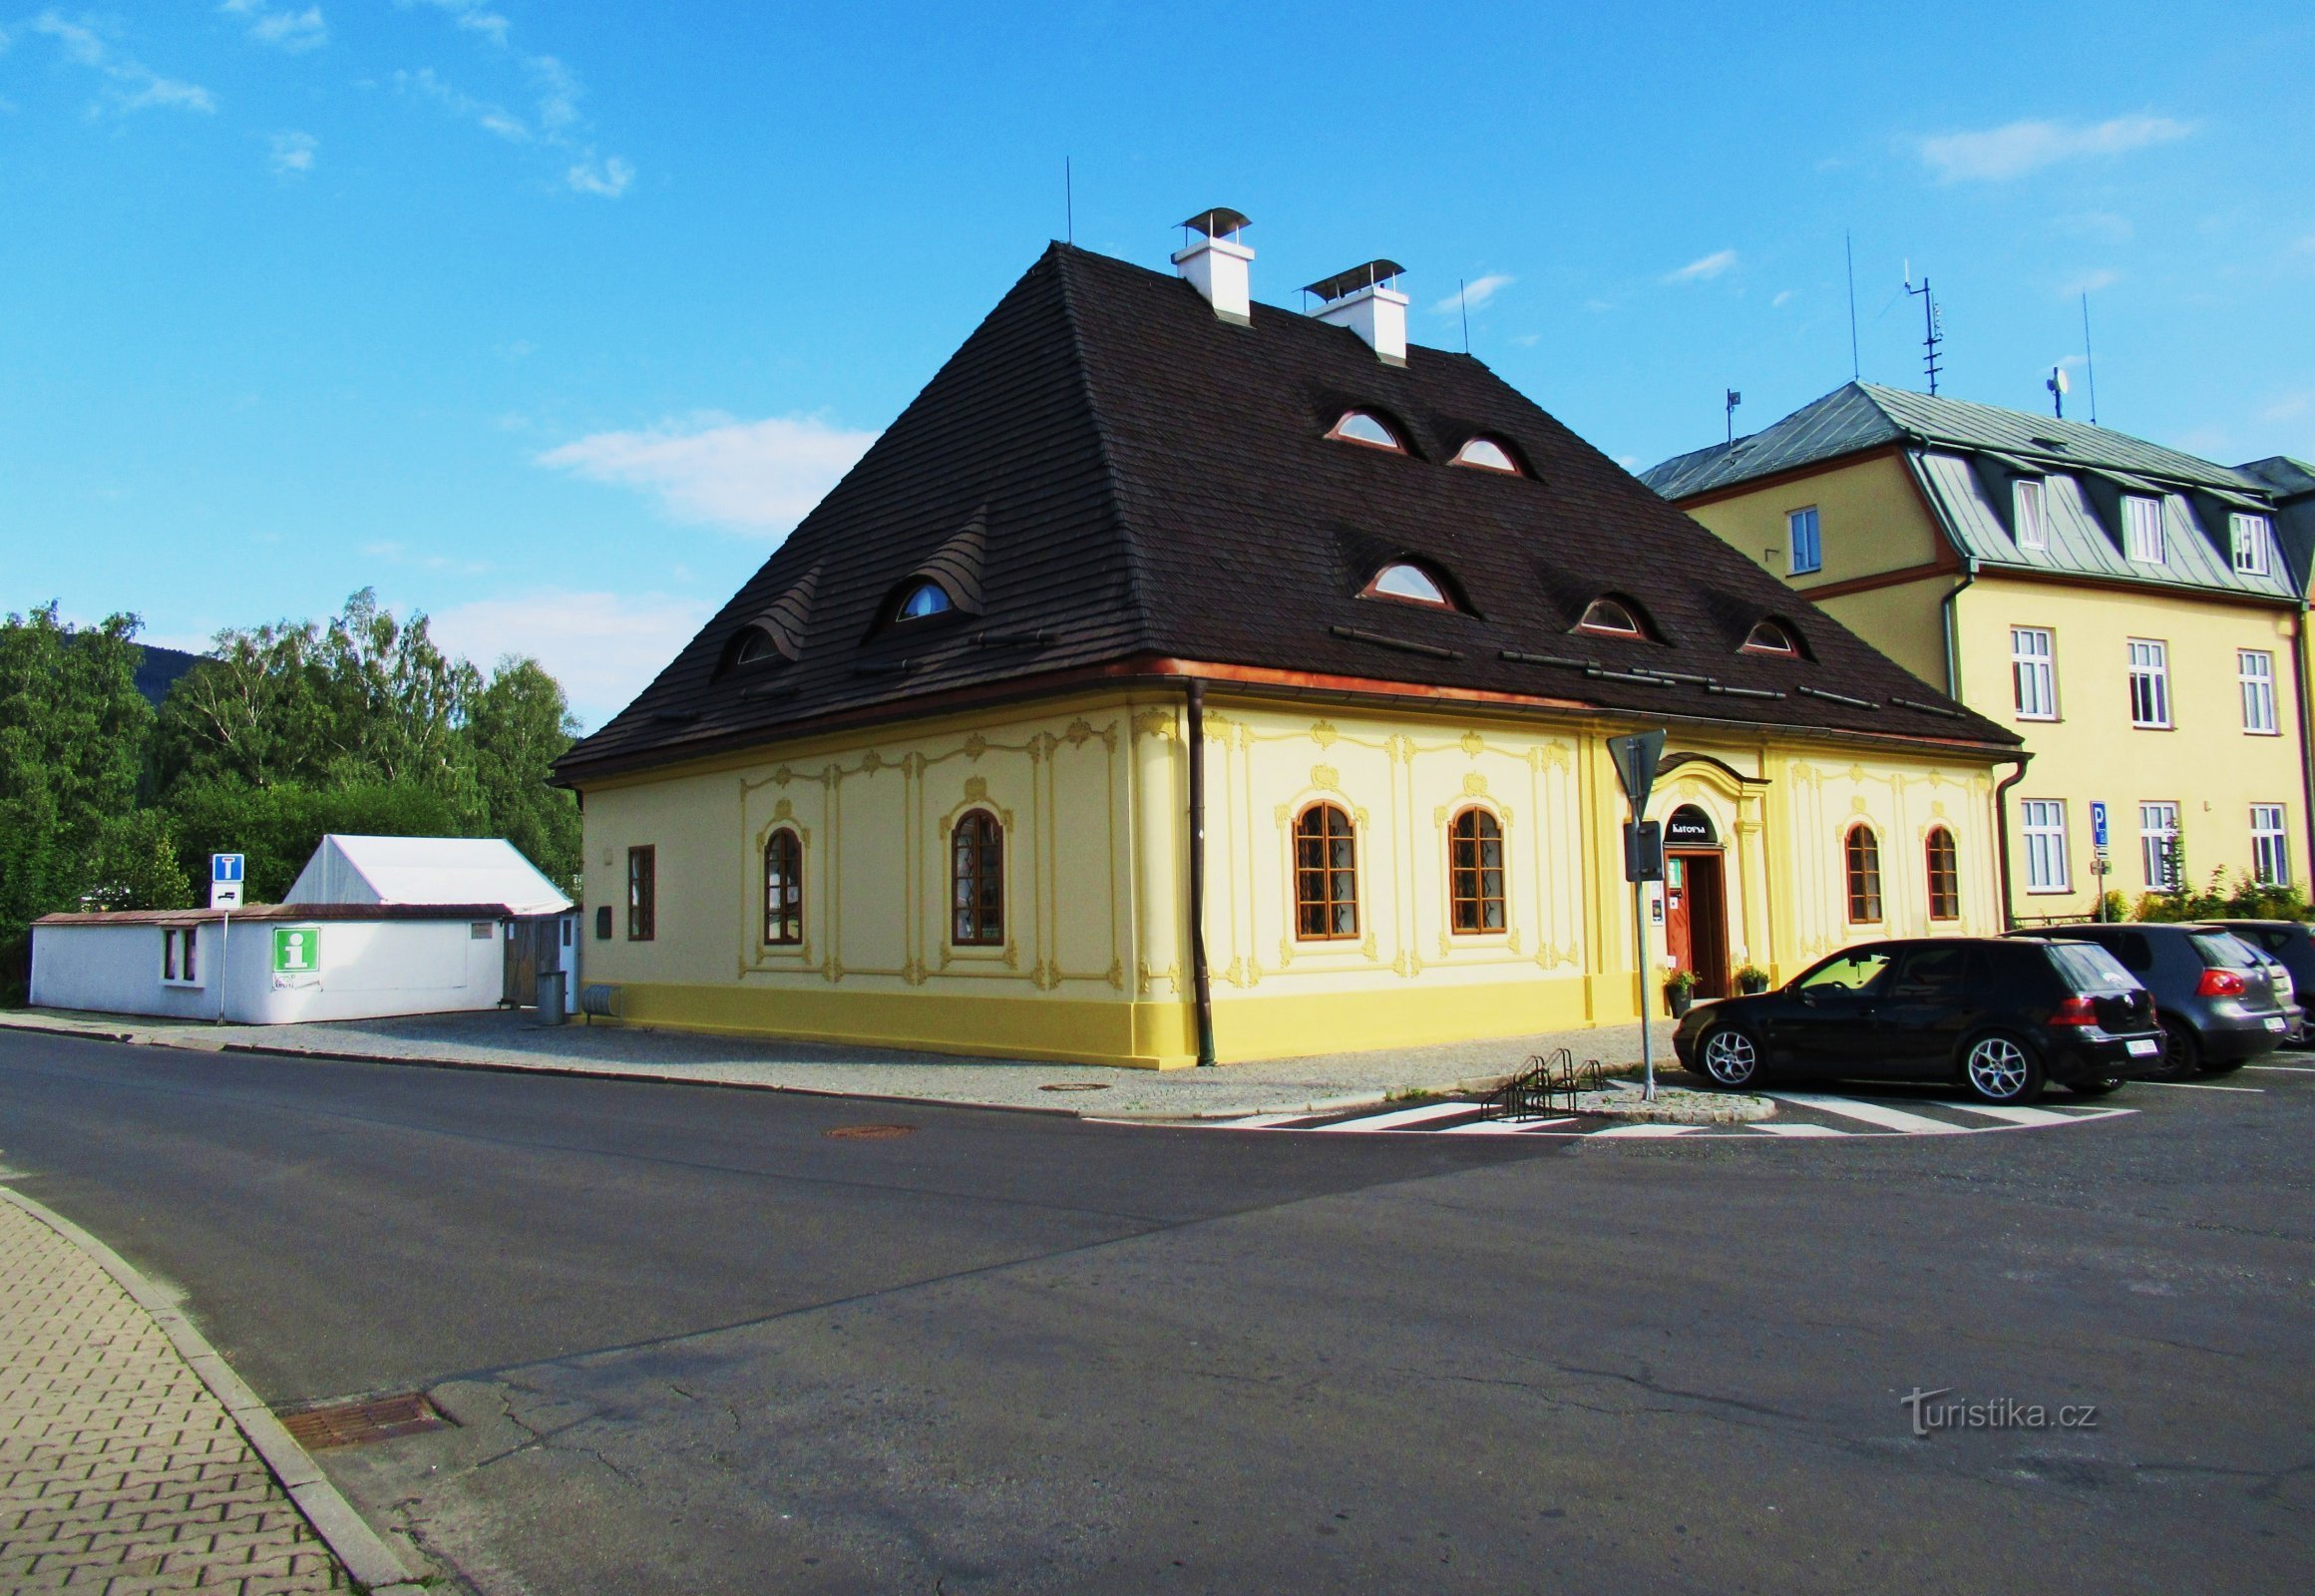
{"label": "pale pavement strip running along the front of the ornate yellow building", "polygon": [[[1609,1068],[1639,1061],[1639,1026],[1549,1031],[1489,1042],[1401,1047],[1229,1063],[1215,1070],[1118,1070],[1090,1063],[963,1059],[954,1054],[648,1031],[537,1026],[516,1012],[421,1015],[313,1026],[211,1026],[120,1015],[19,1010],[0,1026],[97,1035],[194,1052],[266,1052],[486,1070],[558,1070],[627,1079],[711,1082],[901,1103],[1046,1110],[1086,1119],[1241,1119],[1366,1107],[1417,1093],[1486,1091],[1558,1047]],[[1671,1026],[1655,1028],[1658,1068],[1671,1070]]]}

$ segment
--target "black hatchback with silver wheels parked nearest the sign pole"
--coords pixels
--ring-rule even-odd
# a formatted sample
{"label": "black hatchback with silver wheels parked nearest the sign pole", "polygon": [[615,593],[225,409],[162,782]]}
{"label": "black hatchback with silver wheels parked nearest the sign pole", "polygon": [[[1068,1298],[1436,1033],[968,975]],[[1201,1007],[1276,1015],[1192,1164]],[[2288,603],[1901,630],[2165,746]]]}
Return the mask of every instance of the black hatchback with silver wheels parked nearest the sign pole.
{"label": "black hatchback with silver wheels parked nearest the sign pole", "polygon": [[1984,1103],[2044,1082],[2100,1096],[2162,1059],[2146,987],[2104,947],[1956,936],[1847,947],[1780,991],[1704,1003],[1671,1047],[1715,1086],[1919,1079]]}

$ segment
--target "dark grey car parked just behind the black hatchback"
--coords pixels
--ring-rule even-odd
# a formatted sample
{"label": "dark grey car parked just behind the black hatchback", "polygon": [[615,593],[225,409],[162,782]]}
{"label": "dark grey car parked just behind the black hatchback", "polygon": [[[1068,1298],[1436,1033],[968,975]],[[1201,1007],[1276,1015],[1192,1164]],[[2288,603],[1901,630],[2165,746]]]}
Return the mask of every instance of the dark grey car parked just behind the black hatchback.
{"label": "dark grey car parked just behind the black hatchback", "polygon": [[[2283,1045],[2290,991],[2239,936],[2218,924],[2072,924],[2026,936],[2097,943],[2155,996],[2162,1072],[2171,1079],[2239,1070]],[[2287,978],[2285,978],[2287,980]]]}

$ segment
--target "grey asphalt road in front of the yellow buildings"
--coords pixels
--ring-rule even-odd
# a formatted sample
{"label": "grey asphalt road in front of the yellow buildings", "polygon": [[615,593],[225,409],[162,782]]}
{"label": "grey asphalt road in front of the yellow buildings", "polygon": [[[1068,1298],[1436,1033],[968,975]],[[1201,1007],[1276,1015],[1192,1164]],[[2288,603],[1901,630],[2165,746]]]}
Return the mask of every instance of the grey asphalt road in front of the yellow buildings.
{"label": "grey asphalt road in front of the yellow buildings", "polygon": [[1502,1142],[5,1035],[0,1165],[271,1401],[433,1390],[324,1459],[493,1594],[2306,1589],[2315,1070],[2227,1084]]}

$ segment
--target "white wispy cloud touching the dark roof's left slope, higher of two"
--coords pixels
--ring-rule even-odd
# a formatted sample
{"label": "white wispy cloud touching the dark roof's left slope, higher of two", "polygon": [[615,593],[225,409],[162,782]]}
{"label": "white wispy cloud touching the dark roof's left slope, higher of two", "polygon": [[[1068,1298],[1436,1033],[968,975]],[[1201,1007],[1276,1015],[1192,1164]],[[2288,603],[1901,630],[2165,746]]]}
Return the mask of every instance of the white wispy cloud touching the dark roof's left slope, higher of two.
{"label": "white wispy cloud touching the dark roof's left slope, higher of two", "polygon": [[537,463],[646,489],[678,521],[785,535],[870,442],[875,433],[817,417],[697,415],[632,433],[593,433],[539,454]]}

